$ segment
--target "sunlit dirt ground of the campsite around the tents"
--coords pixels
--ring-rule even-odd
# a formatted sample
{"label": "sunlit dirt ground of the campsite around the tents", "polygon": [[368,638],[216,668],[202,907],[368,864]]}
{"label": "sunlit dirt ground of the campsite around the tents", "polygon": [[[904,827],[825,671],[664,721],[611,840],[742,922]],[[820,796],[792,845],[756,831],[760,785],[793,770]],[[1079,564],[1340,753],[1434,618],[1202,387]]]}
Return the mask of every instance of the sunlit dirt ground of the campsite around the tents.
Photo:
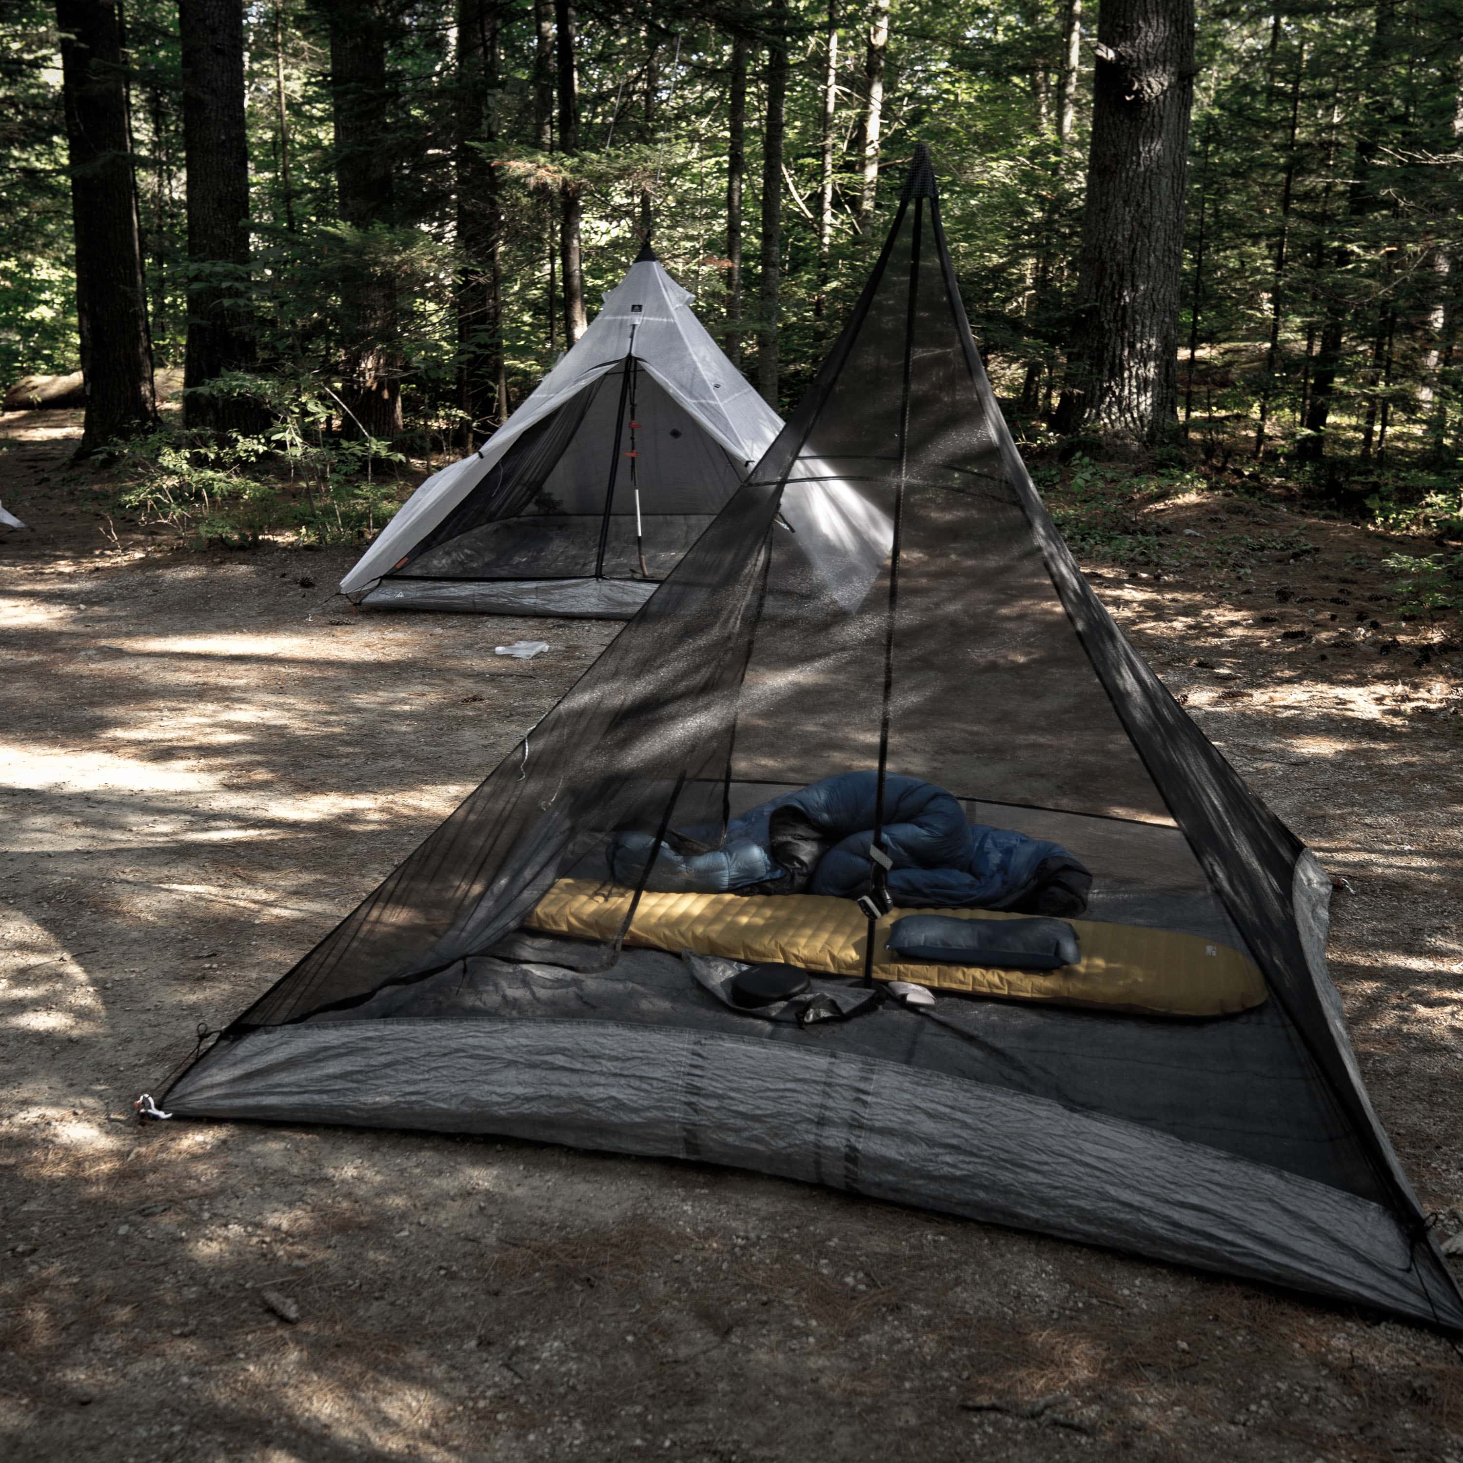
{"label": "sunlit dirt ground of the campsite around the tents", "polygon": [[[1347,1308],[691,1165],[139,1128],[195,1028],[322,936],[616,626],[353,614],[344,550],[114,544],[94,474],[64,468],[78,426],[0,418],[0,502],[34,525],[0,534],[0,1454],[1463,1463],[1457,1350]],[[1248,585],[1093,568],[1344,878],[1333,971],[1451,1235],[1463,654],[1399,620],[1375,535],[1219,493],[1146,512],[1176,541],[1248,516],[1312,546]],[[552,650],[492,654],[521,636]]]}

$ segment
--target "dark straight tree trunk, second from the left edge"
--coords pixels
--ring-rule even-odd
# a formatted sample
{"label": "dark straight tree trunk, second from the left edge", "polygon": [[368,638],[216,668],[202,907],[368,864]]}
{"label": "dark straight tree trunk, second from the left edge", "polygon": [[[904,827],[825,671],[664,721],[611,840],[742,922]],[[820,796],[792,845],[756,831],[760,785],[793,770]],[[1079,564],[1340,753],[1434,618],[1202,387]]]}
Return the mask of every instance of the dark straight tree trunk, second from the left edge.
{"label": "dark straight tree trunk, second from the left edge", "polygon": [[256,432],[263,418],[255,402],[202,389],[255,364],[243,0],[178,0],[178,47],[189,257],[183,423]]}

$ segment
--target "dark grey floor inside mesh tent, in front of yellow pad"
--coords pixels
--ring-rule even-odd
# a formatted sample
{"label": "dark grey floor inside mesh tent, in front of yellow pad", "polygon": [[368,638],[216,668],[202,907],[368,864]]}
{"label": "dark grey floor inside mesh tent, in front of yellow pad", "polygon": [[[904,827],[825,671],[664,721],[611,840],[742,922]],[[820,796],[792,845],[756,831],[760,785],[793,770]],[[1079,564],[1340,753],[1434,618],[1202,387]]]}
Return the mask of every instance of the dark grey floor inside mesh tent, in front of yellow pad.
{"label": "dark grey floor inside mesh tent, in front of yellow pad", "polygon": [[[1356,1146],[1295,1061],[1295,1034],[1274,1005],[1210,1021],[1107,1015],[1020,1002],[939,996],[935,1011],[964,1034],[890,1004],[847,1024],[778,1027],[710,998],[682,958],[626,949],[606,971],[566,969],[598,947],[554,936],[509,938],[533,961],[478,957],[415,985],[388,988],[361,1007],[315,1021],[396,1018],[595,1020],[652,1030],[812,1043],[849,1056],[907,1064],[963,1081],[1049,1096],[1292,1169],[1374,1197]],[[813,980],[813,989],[850,989]]]}

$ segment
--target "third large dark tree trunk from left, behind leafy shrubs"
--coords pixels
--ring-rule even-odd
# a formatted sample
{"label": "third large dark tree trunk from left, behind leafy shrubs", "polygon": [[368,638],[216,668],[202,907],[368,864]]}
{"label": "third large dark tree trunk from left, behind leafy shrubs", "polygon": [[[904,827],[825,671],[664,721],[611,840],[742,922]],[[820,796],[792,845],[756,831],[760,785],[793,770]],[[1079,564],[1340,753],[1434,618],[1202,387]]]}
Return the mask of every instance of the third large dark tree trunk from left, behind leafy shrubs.
{"label": "third large dark tree trunk from left, behind leafy shrubs", "polygon": [[[383,145],[391,116],[386,89],[388,22],[380,0],[334,0],[331,97],[335,114],[335,186],[341,219],[360,231],[395,222],[391,157]],[[347,436],[401,433],[401,360],[396,281],[369,257],[342,271]]]}

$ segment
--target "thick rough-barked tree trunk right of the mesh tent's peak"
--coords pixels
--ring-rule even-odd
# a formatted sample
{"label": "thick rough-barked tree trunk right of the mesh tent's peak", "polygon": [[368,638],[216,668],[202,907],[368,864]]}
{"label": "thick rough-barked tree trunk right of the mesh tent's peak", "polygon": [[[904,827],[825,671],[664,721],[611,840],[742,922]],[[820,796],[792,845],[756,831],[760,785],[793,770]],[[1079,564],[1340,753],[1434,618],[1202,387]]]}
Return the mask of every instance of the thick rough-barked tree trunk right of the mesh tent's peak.
{"label": "thick rough-barked tree trunk right of the mesh tent's peak", "polygon": [[1153,445],[1178,426],[1194,0],[1105,0],[1094,54],[1083,351],[1062,426]]}

